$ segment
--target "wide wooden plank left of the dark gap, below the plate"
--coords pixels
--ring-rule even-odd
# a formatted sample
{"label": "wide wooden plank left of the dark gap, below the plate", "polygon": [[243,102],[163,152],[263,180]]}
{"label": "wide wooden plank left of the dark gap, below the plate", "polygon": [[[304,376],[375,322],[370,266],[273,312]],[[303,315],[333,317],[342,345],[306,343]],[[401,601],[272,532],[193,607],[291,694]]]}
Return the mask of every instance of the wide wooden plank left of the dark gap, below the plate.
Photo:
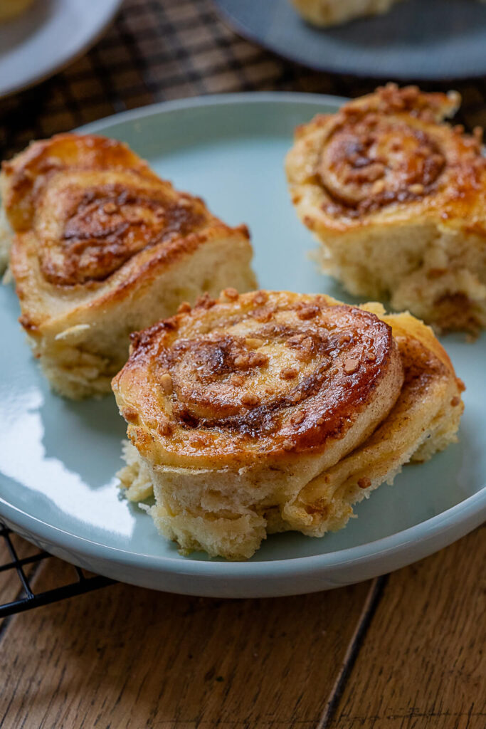
{"label": "wide wooden plank left of the dark gap, below the plate", "polygon": [[[34,586],[71,569],[50,563]],[[17,615],[0,642],[0,726],[314,728],[370,584],[267,600],[116,585]]]}

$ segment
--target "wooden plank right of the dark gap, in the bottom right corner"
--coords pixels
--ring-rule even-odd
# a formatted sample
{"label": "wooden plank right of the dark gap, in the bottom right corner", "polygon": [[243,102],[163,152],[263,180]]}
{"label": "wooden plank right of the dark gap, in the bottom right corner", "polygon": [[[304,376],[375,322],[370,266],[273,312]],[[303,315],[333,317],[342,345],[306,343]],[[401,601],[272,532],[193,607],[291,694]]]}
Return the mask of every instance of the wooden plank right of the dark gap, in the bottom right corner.
{"label": "wooden plank right of the dark gap, in the bottom right corner", "polygon": [[485,567],[483,526],[391,574],[326,729],[485,729]]}

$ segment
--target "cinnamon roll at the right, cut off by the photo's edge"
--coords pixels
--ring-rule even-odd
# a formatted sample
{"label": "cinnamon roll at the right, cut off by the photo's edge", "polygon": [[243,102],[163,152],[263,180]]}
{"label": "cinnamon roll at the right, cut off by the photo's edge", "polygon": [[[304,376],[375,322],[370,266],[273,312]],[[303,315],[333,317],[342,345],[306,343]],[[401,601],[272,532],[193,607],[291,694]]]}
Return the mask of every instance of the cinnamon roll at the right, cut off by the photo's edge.
{"label": "cinnamon roll at the right, cut off by the photo's edge", "polygon": [[388,85],[297,129],[291,198],[323,270],[443,330],[486,325],[481,135],[444,117],[457,93]]}

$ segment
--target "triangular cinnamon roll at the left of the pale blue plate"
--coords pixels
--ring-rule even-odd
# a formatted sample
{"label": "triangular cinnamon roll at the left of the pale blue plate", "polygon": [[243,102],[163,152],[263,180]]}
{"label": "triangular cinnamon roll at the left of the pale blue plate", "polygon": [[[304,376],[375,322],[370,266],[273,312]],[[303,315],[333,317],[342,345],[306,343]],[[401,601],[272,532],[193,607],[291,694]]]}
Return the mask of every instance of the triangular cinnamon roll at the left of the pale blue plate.
{"label": "triangular cinnamon roll at the left of the pale blue plate", "polygon": [[[20,322],[67,397],[109,392],[130,332],[181,300],[254,288],[246,227],[224,225],[119,141],[36,141],[3,164],[1,195]],[[4,254],[6,238],[4,227]]]}

